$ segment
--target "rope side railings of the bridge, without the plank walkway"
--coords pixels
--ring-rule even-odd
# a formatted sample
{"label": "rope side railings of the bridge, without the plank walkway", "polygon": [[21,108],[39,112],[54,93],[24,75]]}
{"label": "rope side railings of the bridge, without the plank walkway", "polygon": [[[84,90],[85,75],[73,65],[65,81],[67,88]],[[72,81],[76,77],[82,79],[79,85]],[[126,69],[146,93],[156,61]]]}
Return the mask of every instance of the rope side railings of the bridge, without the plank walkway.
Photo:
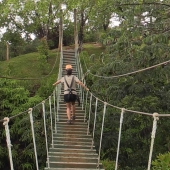
{"label": "rope side railings of the bridge, without the plank walkway", "polygon": [[[78,77],[81,78],[83,77],[83,71],[79,59],[78,53],[75,53],[75,59],[76,59],[76,64],[77,64],[77,70],[78,71]],[[59,67],[59,74],[58,78],[62,77],[62,72],[63,72],[63,52],[61,52],[60,56],[60,67]],[[85,79],[82,80],[83,83],[86,85]],[[3,125],[5,128],[6,132],[6,142],[7,142],[7,148],[9,152],[9,161],[10,161],[10,167],[11,170],[14,170],[14,164],[13,164],[13,158],[12,158],[12,142],[10,139],[10,129],[9,129],[9,121],[10,119],[14,119],[17,116],[23,115],[25,113],[28,113],[29,119],[30,119],[30,128],[32,132],[32,140],[33,140],[33,146],[34,146],[34,159],[36,162],[36,169],[39,170],[39,164],[38,164],[38,157],[37,157],[37,148],[36,148],[36,135],[34,132],[34,110],[41,105],[42,107],[42,112],[43,112],[43,121],[44,121],[44,133],[45,133],[45,144],[46,144],[46,155],[47,155],[47,168],[50,168],[50,162],[49,162],[49,143],[48,143],[48,135],[51,137],[51,147],[54,148],[54,135],[58,133],[57,131],[57,124],[60,122],[59,118],[59,101],[60,101],[60,94],[61,94],[61,85],[56,86],[54,89],[53,93],[44,101],[39,103],[33,108],[29,108],[27,111],[24,111],[22,113],[19,113],[16,116],[13,117],[5,117],[3,119]],[[115,108],[120,111],[120,125],[119,125],[119,134],[118,134],[118,140],[117,140],[117,155],[116,155],[116,160],[115,160],[115,170],[118,169],[118,161],[119,161],[119,150],[120,150],[120,143],[121,143],[121,133],[122,133],[122,125],[123,125],[123,120],[124,120],[124,114],[126,112],[131,112],[135,114],[141,114],[149,117],[153,117],[153,127],[152,127],[152,133],[151,133],[151,143],[150,143],[150,152],[149,152],[149,158],[148,158],[148,167],[147,170],[151,169],[151,161],[152,161],[152,153],[153,153],[153,148],[154,148],[154,140],[156,136],[156,129],[157,129],[157,122],[159,120],[159,117],[169,117],[170,114],[158,114],[158,113],[145,113],[145,112],[139,112],[139,111],[134,111],[134,110],[128,110],[126,108],[120,108],[114,105],[111,105],[105,101],[102,101],[99,99],[97,96],[95,96],[92,92],[86,92],[80,88],[80,95],[81,95],[81,100],[82,100],[82,106],[81,109],[84,110],[84,122],[86,121],[86,117],[88,117],[87,121],[87,135],[89,135],[90,131],[90,122],[93,121],[93,129],[92,129],[92,141],[91,141],[91,148],[94,145],[94,137],[95,137],[95,131],[96,131],[96,117],[98,114],[97,108],[99,106],[99,102],[103,104],[103,118],[102,118],[102,124],[101,124],[101,134],[100,134],[100,141],[99,141],[99,149],[98,149],[98,162],[97,162],[97,167],[99,167],[100,164],[100,157],[101,157],[101,148],[102,148],[102,140],[103,140],[103,130],[104,130],[104,123],[105,123],[105,116],[107,112],[107,108]],[[94,120],[91,120],[91,113],[92,113],[92,105],[95,106],[95,111],[94,111]],[[101,106],[101,104],[100,104]],[[50,116],[50,127],[51,131],[47,131],[47,122],[46,122],[46,116],[49,114]],[[1,121],[2,122],[2,121]],[[48,134],[50,133],[50,134]]]}

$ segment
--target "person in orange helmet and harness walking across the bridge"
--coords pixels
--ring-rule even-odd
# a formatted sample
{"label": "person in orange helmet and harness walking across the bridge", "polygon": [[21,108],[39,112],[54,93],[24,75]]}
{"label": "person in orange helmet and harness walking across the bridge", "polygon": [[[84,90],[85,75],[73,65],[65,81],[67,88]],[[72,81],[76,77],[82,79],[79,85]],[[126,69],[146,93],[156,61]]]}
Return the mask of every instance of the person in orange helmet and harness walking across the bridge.
{"label": "person in orange helmet and harness walking across the bridge", "polygon": [[[64,83],[64,102],[66,103],[67,123],[71,124],[71,119],[75,120],[75,101],[77,99],[76,84],[89,90],[76,76],[72,75],[72,65],[66,65],[66,76],[55,82],[53,85]],[[72,110],[72,116],[71,116]]]}

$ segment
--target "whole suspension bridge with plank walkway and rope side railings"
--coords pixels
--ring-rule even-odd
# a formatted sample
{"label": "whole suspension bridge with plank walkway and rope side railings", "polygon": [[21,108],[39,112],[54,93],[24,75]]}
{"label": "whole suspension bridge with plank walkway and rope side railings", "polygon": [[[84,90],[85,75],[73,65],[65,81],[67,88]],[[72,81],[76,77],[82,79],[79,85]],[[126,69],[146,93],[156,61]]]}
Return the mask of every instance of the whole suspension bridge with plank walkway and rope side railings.
{"label": "whole suspension bridge with plank walkway and rope side railings", "polygon": [[[75,18],[76,20],[76,18]],[[62,22],[61,22],[62,23]],[[76,24],[75,24],[76,25]],[[60,26],[60,36],[62,37],[62,26]],[[62,44],[62,38],[60,39]],[[60,50],[60,66],[58,79],[60,79],[64,74],[64,68],[66,64],[71,64],[73,66],[73,75],[76,75],[79,79],[83,77],[83,71],[81,67],[81,62],[78,54],[78,35],[75,34],[75,50],[63,51],[62,45]],[[143,71],[143,70],[142,70]],[[82,82],[86,85],[85,79],[82,79]],[[102,101],[92,92],[85,92],[81,87],[78,87],[78,94],[81,99],[81,105],[76,107],[76,120],[73,121],[72,125],[66,123],[66,106],[63,103],[63,87],[58,85],[55,87],[53,93],[44,101],[39,103],[33,108],[29,108],[27,111],[19,113],[13,117],[5,117],[3,119],[3,125],[6,133],[6,142],[9,155],[10,169],[16,170],[17,167],[14,166],[13,155],[12,155],[12,141],[10,138],[10,128],[9,121],[17,116],[22,115],[25,112],[29,113],[30,119],[30,128],[32,132],[32,141],[34,149],[34,161],[36,164],[36,170],[39,170],[39,160],[37,156],[37,143],[35,135],[35,125],[34,125],[34,110],[39,105],[42,105],[43,112],[43,123],[44,123],[44,133],[45,133],[45,149],[46,149],[46,166],[44,170],[93,170],[101,169],[104,167],[101,163],[101,149],[103,142],[103,130],[105,126],[105,116],[107,107],[116,108],[120,112],[120,124],[119,133],[117,136],[117,154],[115,157],[115,165],[113,165],[115,170],[118,170],[119,167],[119,150],[121,147],[121,134],[122,134],[122,125],[124,121],[124,113],[131,112],[134,114],[141,114],[144,116],[153,117],[153,127],[151,132],[151,142],[150,150],[148,151],[148,165],[146,166],[147,170],[151,169],[152,162],[152,153],[154,150],[154,140],[157,130],[157,122],[159,117],[169,117],[170,114],[158,114],[158,113],[144,113],[140,111],[128,110],[126,108],[120,108],[113,106],[105,101]],[[94,102],[95,101],[95,102]],[[96,121],[97,121],[97,108],[98,105],[102,103],[103,105],[103,114],[102,114],[102,124],[100,127],[100,139],[99,139],[99,148],[96,149],[94,145],[95,131],[96,131]],[[90,133],[90,121],[91,121],[91,112],[92,105],[95,106],[93,129]],[[88,107],[87,107],[88,106]],[[50,131],[47,130],[47,114],[50,116]],[[86,120],[86,118],[88,118]],[[48,136],[51,138],[51,143],[49,143]],[[147,156],[147,155],[146,155]]]}

